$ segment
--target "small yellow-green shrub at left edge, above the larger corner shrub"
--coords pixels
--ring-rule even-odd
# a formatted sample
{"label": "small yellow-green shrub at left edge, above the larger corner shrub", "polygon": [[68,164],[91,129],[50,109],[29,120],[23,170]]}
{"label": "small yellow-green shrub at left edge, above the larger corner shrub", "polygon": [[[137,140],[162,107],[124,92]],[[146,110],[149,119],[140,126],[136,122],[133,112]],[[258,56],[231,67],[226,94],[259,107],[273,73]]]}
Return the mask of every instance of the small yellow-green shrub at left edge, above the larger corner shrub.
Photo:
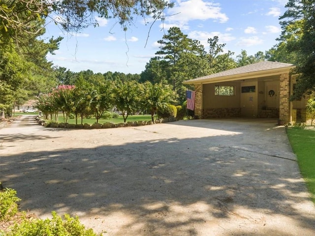
{"label": "small yellow-green shrub at left edge, above the larger corner shrub", "polygon": [[16,196],[16,191],[13,189],[5,189],[0,191],[0,220],[8,219],[10,216],[18,212],[18,204],[21,201]]}

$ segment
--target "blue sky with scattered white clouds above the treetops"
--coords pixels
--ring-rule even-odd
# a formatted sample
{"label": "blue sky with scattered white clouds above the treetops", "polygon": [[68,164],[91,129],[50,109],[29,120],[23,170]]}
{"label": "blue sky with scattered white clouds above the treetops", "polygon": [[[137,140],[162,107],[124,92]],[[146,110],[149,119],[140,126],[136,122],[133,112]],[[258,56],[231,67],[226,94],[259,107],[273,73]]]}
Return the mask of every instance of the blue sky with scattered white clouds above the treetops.
{"label": "blue sky with scattered white clouds above the treetops", "polygon": [[[51,23],[45,36],[63,36],[56,55],[47,59],[55,66],[74,72],[91,69],[95,73],[118,71],[141,73],[160,46],[157,41],[176,26],[191,39],[197,39],[209,50],[207,39],[219,36],[225,50],[235,56],[246,50],[248,55],[266,51],[277,43],[281,34],[279,17],[284,14],[286,0],[176,0],[165,11],[165,21],[137,17],[126,32],[115,19],[96,18],[99,27],[80,33],[65,33]],[[149,35],[149,36],[148,36]]]}

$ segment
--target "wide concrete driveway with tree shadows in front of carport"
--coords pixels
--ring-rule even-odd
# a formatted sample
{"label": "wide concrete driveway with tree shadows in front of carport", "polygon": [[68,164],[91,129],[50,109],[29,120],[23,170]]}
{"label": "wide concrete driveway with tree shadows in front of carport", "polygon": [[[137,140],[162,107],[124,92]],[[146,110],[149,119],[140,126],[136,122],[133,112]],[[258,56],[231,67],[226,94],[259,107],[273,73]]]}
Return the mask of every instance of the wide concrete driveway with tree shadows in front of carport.
{"label": "wide concrete driveway with tree shadows in front of carport", "polygon": [[[0,130],[0,181],[22,210],[108,236],[314,236],[315,207],[276,120]],[[30,116],[32,118],[32,116]]]}

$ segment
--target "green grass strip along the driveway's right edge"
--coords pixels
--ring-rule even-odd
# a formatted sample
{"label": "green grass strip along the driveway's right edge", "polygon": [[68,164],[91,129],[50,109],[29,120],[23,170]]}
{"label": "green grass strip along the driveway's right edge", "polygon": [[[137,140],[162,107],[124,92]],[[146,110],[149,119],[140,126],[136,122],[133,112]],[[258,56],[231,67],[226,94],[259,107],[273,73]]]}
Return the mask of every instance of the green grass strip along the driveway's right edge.
{"label": "green grass strip along the driveway's right edge", "polygon": [[297,156],[299,168],[312,201],[315,203],[315,130],[301,127],[287,128],[286,133]]}

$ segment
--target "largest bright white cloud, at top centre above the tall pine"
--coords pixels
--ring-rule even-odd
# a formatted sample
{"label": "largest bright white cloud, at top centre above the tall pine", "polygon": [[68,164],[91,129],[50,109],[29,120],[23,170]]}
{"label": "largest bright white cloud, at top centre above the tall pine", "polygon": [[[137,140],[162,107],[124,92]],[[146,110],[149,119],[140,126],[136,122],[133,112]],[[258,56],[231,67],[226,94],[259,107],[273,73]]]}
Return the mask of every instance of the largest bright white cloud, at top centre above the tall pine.
{"label": "largest bright white cloud, at top centre above the tall pine", "polygon": [[[165,18],[167,24],[164,24],[164,28],[168,28],[170,25],[178,26],[181,29],[188,28],[187,24],[192,20],[213,19],[224,23],[229,19],[226,14],[221,12],[220,4],[203,0],[178,0],[173,8],[168,9],[167,15],[169,16]],[[163,24],[160,27],[163,27]]]}

